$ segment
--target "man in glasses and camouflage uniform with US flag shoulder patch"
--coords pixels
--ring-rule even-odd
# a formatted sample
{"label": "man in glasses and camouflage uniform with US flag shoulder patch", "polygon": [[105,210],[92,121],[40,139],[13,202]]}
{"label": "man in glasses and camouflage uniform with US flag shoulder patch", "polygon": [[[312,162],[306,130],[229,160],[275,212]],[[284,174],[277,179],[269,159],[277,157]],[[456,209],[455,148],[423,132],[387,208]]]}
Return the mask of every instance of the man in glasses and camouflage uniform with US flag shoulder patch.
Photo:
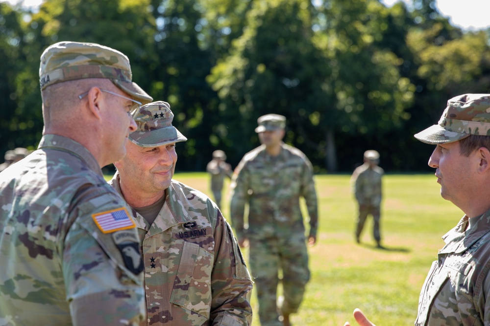
{"label": "man in glasses and camouflage uniform with US flag shoulder patch", "polygon": [[138,234],[100,169],[136,130],[132,98],[151,97],[123,53],[94,43],[49,46],[39,74],[44,135],[0,173],[0,325],[138,325]]}

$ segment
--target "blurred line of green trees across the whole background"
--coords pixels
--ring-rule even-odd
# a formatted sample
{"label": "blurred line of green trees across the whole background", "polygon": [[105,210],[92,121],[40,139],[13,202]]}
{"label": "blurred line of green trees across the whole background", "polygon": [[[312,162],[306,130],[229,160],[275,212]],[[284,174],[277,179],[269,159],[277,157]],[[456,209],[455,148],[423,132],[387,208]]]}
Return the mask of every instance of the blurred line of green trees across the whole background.
{"label": "blurred line of green trees across the whole background", "polygon": [[0,153],[37,146],[39,58],[69,40],[122,51],[170,103],[188,138],[180,171],[204,171],[217,149],[236,166],[267,113],[286,116],[285,142],[317,173],[351,172],[368,149],[387,172],[427,171],[433,147],[413,134],[449,98],[490,91],[489,36],[452,26],[434,0],[0,2]]}

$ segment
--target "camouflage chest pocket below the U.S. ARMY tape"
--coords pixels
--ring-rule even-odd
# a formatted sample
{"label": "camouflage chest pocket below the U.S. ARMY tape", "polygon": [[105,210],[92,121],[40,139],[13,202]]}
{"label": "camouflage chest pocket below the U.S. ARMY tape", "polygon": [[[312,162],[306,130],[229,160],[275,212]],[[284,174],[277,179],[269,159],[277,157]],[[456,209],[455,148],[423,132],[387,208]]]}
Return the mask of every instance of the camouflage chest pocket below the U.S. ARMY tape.
{"label": "camouflage chest pocket below the U.S. ARMY tape", "polygon": [[212,268],[213,255],[185,241],[170,302],[209,318]]}

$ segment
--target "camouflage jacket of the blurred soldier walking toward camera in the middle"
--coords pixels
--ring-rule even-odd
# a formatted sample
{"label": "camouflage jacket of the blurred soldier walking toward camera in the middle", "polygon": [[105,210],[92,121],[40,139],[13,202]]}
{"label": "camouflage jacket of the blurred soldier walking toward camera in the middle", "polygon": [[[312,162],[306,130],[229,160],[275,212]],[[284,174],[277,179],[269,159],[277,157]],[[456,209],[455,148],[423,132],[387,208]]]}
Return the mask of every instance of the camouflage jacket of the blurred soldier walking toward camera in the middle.
{"label": "camouflage jacket of the blurred soldier walking toward camera in the middle", "polygon": [[304,233],[299,197],[306,200],[310,235],[316,236],[318,204],[313,167],[298,149],[282,144],[278,156],[270,156],[261,145],[245,154],[231,181],[230,215],[239,239],[245,235],[244,209],[249,205],[250,236]]}

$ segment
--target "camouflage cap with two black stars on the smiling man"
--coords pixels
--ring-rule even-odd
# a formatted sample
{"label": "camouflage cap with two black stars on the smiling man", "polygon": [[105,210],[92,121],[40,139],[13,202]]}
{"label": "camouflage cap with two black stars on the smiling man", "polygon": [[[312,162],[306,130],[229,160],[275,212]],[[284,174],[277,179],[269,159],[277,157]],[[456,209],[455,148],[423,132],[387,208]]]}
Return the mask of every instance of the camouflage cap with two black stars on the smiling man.
{"label": "camouflage cap with two black stars on the smiling man", "polygon": [[148,103],[133,116],[138,128],[129,134],[129,140],[138,146],[156,147],[187,140],[172,126],[173,113],[167,102]]}

